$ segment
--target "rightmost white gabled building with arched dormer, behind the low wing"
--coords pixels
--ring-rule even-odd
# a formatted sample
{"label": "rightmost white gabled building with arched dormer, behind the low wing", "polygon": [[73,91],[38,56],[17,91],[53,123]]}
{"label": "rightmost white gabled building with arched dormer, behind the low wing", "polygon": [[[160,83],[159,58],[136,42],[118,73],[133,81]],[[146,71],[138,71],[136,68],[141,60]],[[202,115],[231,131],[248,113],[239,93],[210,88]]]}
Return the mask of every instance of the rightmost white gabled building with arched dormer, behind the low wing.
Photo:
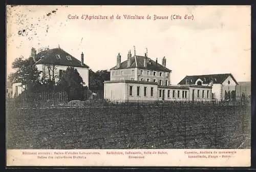
{"label": "rightmost white gabled building with arched dormer, behind the low wing", "polygon": [[238,82],[229,73],[185,76],[178,84],[212,86],[212,99],[220,101],[224,100],[225,92],[236,91]]}

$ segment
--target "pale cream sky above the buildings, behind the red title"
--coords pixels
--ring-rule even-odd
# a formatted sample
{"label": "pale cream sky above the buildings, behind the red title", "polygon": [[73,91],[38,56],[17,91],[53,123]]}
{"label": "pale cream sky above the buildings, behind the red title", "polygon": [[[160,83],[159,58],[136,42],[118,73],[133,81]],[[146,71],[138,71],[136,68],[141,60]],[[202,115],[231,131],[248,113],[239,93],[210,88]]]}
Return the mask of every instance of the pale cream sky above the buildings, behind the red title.
{"label": "pale cream sky above the buildings, behind the red title", "polygon": [[[8,6],[7,75],[14,72],[14,59],[29,57],[32,47],[59,46],[79,60],[83,52],[84,63],[97,71],[114,67],[118,53],[126,60],[135,46],[136,55],[147,48],[148,57],[159,63],[165,56],[172,84],[186,75],[221,73],[250,81],[250,11],[250,6]],[[186,14],[193,19],[184,19]],[[181,19],[171,19],[174,15]]]}

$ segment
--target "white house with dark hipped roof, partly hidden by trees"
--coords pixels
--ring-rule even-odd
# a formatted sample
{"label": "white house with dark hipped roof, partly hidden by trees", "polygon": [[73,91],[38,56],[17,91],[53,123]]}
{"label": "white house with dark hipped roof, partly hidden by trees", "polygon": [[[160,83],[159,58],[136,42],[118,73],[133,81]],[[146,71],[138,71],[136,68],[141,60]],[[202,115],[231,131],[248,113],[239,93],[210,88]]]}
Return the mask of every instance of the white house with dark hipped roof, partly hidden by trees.
{"label": "white house with dark hipped roof, partly hidden by trees", "polygon": [[[84,86],[89,87],[89,66],[83,63],[84,55],[81,53],[81,60],[73,57],[61,48],[48,49],[36,54],[34,48],[31,49],[31,57],[35,61],[38,71],[41,71],[41,77],[53,77],[58,81],[68,67],[74,67],[83,79]],[[54,67],[54,71],[52,70]],[[49,70],[51,70],[49,72]],[[18,95],[24,91],[22,83],[13,83],[12,95]]]}

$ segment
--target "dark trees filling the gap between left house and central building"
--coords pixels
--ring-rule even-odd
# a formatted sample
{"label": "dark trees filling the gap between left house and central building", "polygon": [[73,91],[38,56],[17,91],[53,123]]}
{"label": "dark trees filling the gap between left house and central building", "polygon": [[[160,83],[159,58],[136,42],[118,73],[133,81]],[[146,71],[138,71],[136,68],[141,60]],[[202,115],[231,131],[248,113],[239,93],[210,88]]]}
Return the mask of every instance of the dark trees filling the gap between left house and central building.
{"label": "dark trees filling the gap between left house and central building", "polygon": [[101,70],[93,72],[89,70],[89,89],[93,91],[103,90],[104,81],[110,80],[110,72],[107,70]]}

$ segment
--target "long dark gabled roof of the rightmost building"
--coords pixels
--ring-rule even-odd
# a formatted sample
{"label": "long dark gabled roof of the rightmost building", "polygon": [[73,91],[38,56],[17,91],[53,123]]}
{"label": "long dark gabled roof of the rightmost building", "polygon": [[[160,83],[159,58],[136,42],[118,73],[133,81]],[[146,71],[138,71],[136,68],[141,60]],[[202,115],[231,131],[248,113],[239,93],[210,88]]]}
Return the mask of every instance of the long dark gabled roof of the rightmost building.
{"label": "long dark gabled roof of the rightmost building", "polygon": [[195,84],[195,82],[198,79],[201,79],[203,81],[203,83],[210,83],[210,81],[213,81],[214,83],[222,83],[226,80],[226,78],[228,76],[230,76],[234,80],[234,82],[236,82],[236,84],[238,84],[236,79],[234,79],[234,77],[230,73],[228,73],[228,74],[210,74],[210,75],[185,76],[178,84],[186,84],[186,79],[188,80],[188,84],[191,84],[191,83]]}

